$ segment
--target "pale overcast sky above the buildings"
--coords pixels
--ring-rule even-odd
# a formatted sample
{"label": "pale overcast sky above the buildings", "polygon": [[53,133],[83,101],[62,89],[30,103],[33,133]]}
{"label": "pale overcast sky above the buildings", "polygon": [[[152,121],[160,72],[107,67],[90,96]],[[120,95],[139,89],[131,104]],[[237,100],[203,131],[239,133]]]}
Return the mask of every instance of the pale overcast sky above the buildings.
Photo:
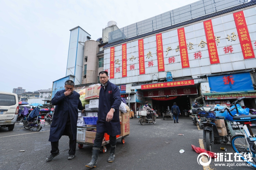
{"label": "pale overcast sky above the buildings", "polygon": [[119,28],[196,2],[167,0],[0,0],[0,91],[52,88],[66,76],[70,29],[91,40],[114,20]]}

